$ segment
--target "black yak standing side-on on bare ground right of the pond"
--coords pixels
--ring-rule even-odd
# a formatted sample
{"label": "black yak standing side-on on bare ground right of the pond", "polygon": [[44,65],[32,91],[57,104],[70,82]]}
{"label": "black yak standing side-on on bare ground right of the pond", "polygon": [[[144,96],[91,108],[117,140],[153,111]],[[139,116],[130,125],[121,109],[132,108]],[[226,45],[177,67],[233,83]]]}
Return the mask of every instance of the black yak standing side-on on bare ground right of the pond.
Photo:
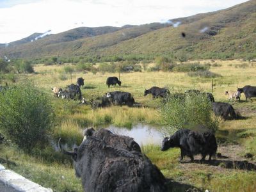
{"label": "black yak standing side-on on bare ground right of the pond", "polygon": [[168,148],[180,148],[180,161],[184,156],[190,157],[194,161],[194,156],[201,154],[201,161],[209,155],[211,157],[216,155],[217,143],[216,138],[212,132],[196,132],[189,129],[181,129],[176,131],[170,138],[164,138],[161,150],[168,150]]}

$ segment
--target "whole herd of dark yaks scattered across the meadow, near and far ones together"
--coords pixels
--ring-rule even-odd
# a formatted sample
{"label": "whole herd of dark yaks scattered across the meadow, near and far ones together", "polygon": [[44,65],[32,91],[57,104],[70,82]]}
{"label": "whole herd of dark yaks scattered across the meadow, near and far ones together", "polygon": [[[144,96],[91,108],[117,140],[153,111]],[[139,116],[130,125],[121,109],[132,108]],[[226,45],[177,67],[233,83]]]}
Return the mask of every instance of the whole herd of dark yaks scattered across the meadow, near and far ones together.
{"label": "whole herd of dark yaks scattered across the meadow, near and far ones together", "polygon": [[[106,84],[121,86],[117,77],[108,77]],[[67,90],[52,88],[56,97],[63,99],[83,100],[80,86],[84,85],[84,79],[78,78],[77,84],[70,84]],[[256,97],[255,86],[237,88],[237,92],[225,92],[228,101],[239,100],[244,93],[246,100]],[[152,99],[161,97],[170,98],[170,91],[166,88],[153,86],[144,92],[144,96],[152,94]],[[236,118],[236,112],[228,102],[215,102],[212,93],[202,93],[199,90],[187,90],[185,93],[174,93],[175,99],[186,99],[188,95],[202,95],[212,103],[212,111],[216,116],[224,120]],[[95,108],[125,104],[132,107],[135,103],[131,93],[108,92],[102,97],[97,97],[97,102],[92,102]],[[83,103],[82,102],[82,103]],[[152,164],[145,154],[141,152],[140,145],[128,136],[113,134],[107,129],[95,131],[93,128],[84,131],[84,140],[73,151],[68,152],[61,147],[61,152],[72,157],[77,177],[81,177],[84,191],[166,191],[166,179],[156,165]],[[161,150],[168,148],[180,148],[180,161],[188,156],[194,161],[195,155],[201,155],[200,161],[209,161],[216,155],[217,142],[211,131],[198,132],[189,129],[181,129],[170,138],[164,138]]]}

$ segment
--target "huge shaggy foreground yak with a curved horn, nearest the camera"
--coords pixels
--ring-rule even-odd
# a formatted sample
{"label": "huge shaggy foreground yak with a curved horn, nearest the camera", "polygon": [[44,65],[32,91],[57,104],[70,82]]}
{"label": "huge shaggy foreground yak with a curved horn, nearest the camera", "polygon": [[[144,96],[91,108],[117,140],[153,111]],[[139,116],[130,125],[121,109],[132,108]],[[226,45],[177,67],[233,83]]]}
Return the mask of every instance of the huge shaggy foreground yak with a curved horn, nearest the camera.
{"label": "huge shaggy foreground yak with a curved horn, nearest the camera", "polygon": [[60,150],[74,160],[84,191],[166,191],[165,178],[147,156],[138,151],[111,147],[90,136],[74,151]]}

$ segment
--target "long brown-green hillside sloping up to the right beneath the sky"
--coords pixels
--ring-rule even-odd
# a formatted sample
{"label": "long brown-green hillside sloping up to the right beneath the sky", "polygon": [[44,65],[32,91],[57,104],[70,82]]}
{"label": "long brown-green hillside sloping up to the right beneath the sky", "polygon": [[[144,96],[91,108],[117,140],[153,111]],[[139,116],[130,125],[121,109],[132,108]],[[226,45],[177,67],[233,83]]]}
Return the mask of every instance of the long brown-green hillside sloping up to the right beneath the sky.
{"label": "long brown-green hillside sloping up to the right beneath the sky", "polygon": [[[225,10],[172,19],[171,24],[106,27],[94,31],[77,28],[35,42],[1,48],[0,56],[123,56],[186,52],[189,58],[256,57],[256,1]],[[182,36],[181,34],[186,36]]]}

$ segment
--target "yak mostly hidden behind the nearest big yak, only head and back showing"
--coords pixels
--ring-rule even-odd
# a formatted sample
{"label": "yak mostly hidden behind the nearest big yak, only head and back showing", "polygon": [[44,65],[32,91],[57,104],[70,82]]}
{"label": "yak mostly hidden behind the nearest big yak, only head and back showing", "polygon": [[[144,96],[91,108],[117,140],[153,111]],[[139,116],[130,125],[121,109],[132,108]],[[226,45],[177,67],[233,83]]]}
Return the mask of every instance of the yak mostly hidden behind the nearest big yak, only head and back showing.
{"label": "yak mostly hidden behind the nearest big yak, only head and back showing", "polygon": [[111,147],[118,147],[124,150],[136,150],[141,152],[140,145],[138,145],[138,143],[136,143],[133,138],[113,134],[108,129],[100,129],[99,131],[95,131],[93,127],[88,128],[84,131],[84,139],[88,138],[89,136],[94,136],[95,138],[104,140],[106,144]]}

